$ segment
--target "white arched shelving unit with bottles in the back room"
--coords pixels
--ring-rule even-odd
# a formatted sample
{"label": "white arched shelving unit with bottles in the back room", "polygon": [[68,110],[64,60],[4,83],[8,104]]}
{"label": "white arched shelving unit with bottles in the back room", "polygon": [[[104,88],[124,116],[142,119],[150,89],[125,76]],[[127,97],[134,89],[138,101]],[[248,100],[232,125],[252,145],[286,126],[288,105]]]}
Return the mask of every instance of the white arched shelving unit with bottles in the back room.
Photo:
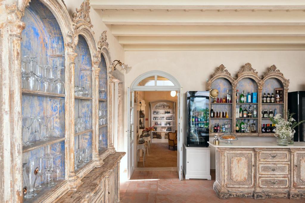
{"label": "white arched shelving unit with bottles in the back room", "polygon": [[[176,130],[175,127],[175,107],[176,102],[170,100],[158,100],[149,102],[151,108],[151,126],[155,126],[157,130],[152,131],[151,137],[156,139],[157,137],[153,137],[153,133],[155,132],[157,135],[164,132],[174,132]],[[159,114],[154,114],[154,112],[158,112]],[[156,120],[154,120],[154,117]],[[167,117],[171,117],[170,119]],[[164,120],[162,120],[164,118]],[[156,122],[158,125],[156,125]],[[167,125],[167,123],[170,125]],[[164,123],[164,125],[162,125]],[[169,131],[168,128],[171,128]],[[160,138],[160,136],[158,136]],[[167,135],[165,136],[167,137]]]}

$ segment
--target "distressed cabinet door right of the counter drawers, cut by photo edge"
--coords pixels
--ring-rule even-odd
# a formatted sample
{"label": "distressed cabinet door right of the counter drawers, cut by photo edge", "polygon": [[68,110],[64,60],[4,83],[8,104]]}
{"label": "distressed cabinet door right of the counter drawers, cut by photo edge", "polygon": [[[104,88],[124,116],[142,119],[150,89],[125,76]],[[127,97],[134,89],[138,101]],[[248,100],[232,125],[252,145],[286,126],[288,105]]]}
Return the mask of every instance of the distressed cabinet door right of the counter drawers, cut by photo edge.
{"label": "distressed cabinet door right of the counter drawers, cut by photo edge", "polygon": [[295,152],[294,185],[296,188],[305,188],[305,151]]}

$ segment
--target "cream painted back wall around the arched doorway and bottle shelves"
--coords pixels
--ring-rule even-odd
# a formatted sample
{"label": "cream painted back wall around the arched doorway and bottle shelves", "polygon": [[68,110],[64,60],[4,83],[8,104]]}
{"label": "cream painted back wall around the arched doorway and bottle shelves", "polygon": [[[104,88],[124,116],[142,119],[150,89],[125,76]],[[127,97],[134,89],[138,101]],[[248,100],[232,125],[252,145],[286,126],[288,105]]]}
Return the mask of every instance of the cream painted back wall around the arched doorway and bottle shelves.
{"label": "cream painted back wall around the arched doorway and bottle shelves", "polygon": [[[127,51],[125,62],[132,69],[125,75],[125,91],[140,74],[152,70],[164,71],[174,76],[183,88],[183,93],[192,90],[205,91],[206,79],[210,78],[216,67],[224,64],[235,77],[239,68],[247,62],[252,64],[259,76],[274,64],[287,79],[290,79],[289,91],[305,90],[304,56],[305,51]],[[125,105],[127,105],[126,101]],[[126,115],[127,111],[125,118]],[[275,142],[274,137],[240,137],[239,139]],[[212,169],[215,168],[213,148],[210,166]]]}

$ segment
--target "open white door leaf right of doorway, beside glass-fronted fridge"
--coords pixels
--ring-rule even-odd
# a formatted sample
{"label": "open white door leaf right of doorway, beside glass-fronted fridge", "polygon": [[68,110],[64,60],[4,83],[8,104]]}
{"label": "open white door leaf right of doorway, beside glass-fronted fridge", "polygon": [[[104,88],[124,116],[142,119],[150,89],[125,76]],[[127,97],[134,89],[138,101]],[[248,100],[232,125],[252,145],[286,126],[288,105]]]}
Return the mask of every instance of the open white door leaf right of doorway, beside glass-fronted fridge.
{"label": "open white door leaf right of doorway, beside glass-fronted fridge", "polygon": [[179,174],[179,179],[182,180],[182,163],[183,163],[183,94],[182,88],[178,92],[178,109],[177,109],[177,118],[178,118],[178,130],[177,130],[177,172]]}

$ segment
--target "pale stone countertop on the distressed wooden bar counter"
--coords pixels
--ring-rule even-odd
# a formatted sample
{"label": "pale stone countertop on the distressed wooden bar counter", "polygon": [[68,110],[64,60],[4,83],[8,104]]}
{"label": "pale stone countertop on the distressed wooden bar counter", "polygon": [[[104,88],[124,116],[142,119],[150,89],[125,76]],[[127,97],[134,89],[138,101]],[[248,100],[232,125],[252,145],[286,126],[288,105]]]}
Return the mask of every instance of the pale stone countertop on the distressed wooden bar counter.
{"label": "pale stone countertop on the distressed wooden bar counter", "polygon": [[227,141],[220,140],[219,145],[214,145],[213,142],[208,142],[212,147],[221,148],[305,148],[305,142],[294,142],[293,145],[279,146],[274,142],[242,142],[239,140],[231,141],[232,145],[226,144]]}

